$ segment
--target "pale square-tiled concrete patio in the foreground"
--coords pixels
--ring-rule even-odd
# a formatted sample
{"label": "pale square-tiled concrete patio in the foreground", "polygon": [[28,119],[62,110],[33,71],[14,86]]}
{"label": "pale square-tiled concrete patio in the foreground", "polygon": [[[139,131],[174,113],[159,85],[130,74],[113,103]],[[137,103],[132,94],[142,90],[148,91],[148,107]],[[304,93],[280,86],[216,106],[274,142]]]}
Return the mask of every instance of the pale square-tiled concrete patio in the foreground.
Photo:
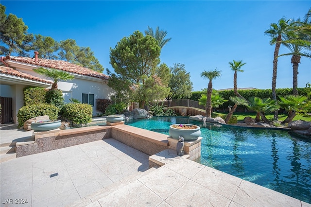
{"label": "pale square-tiled concrete patio in the foreground", "polygon": [[4,161],[1,206],[311,207],[189,159],[149,169],[148,158],[107,138]]}

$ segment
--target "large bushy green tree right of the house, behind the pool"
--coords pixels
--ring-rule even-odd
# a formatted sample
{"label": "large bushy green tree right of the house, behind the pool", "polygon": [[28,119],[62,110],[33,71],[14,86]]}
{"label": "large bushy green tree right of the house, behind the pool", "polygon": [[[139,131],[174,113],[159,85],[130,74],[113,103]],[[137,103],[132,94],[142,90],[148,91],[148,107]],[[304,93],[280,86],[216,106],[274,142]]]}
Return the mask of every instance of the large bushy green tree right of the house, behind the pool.
{"label": "large bushy green tree right of the house, behind the pool", "polygon": [[115,73],[108,86],[122,100],[136,101],[143,108],[146,102],[164,99],[168,93],[171,73],[166,64],[160,63],[161,48],[150,35],[136,31],[123,37],[114,49],[110,48],[110,64]]}

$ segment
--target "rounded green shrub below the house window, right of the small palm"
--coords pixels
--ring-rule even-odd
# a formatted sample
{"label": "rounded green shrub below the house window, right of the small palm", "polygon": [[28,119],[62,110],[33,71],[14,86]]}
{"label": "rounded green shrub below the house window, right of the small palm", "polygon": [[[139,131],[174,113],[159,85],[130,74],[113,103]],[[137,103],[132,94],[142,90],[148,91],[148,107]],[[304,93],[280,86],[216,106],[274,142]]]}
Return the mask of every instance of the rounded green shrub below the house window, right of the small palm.
{"label": "rounded green shrub below the house window, right of the small palm", "polygon": [[89,104],[65,104],[62,116],[73,124],[86,124],[92,121],[93,108]]}

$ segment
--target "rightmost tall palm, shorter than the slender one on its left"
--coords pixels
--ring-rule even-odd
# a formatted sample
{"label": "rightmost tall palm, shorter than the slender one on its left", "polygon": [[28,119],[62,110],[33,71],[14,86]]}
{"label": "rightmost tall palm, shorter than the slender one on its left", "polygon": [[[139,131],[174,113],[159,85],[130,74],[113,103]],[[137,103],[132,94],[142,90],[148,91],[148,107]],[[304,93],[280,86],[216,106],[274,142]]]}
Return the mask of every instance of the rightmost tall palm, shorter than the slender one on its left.
{"label": "rightmost tall palm, shorter than the slender one on its left", "polygon": [[298,87],[298,66],[300,63],[301,56],[299,53],[304,49],[303,46],[297,44],[288,44],[283,43],[291,52],[283,55],[293,55],[291,62],[293,64],[293,95],[298,95],[297,87]]}

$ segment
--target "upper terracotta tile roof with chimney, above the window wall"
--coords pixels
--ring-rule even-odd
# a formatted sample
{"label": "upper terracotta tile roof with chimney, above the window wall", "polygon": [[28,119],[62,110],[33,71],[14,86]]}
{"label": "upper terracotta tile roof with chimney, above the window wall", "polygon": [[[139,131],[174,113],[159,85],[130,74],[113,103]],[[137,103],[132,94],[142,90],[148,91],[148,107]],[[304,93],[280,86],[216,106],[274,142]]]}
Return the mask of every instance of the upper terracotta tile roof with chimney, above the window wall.
{"label": "upper terracotta tile roof with chimney, above the window wall", "polygon": [[77,73],[81,75],[91,76],[95,78],[101,78],[103,80],[108,80],[109,76],[103,73],[84,68],[82,66],[75,65],[73,63],[69,63],[63,60],[49,60],[49,59],[42,59],[38,58],[35,61],[35,58],[31,57],[16,57],[16,56],[6,56],[5,60],[15,60],[22,63],[28,63],[36,66],[46,67],[46,68],[53,68],[53,69],[61,69],[67,72]]}

